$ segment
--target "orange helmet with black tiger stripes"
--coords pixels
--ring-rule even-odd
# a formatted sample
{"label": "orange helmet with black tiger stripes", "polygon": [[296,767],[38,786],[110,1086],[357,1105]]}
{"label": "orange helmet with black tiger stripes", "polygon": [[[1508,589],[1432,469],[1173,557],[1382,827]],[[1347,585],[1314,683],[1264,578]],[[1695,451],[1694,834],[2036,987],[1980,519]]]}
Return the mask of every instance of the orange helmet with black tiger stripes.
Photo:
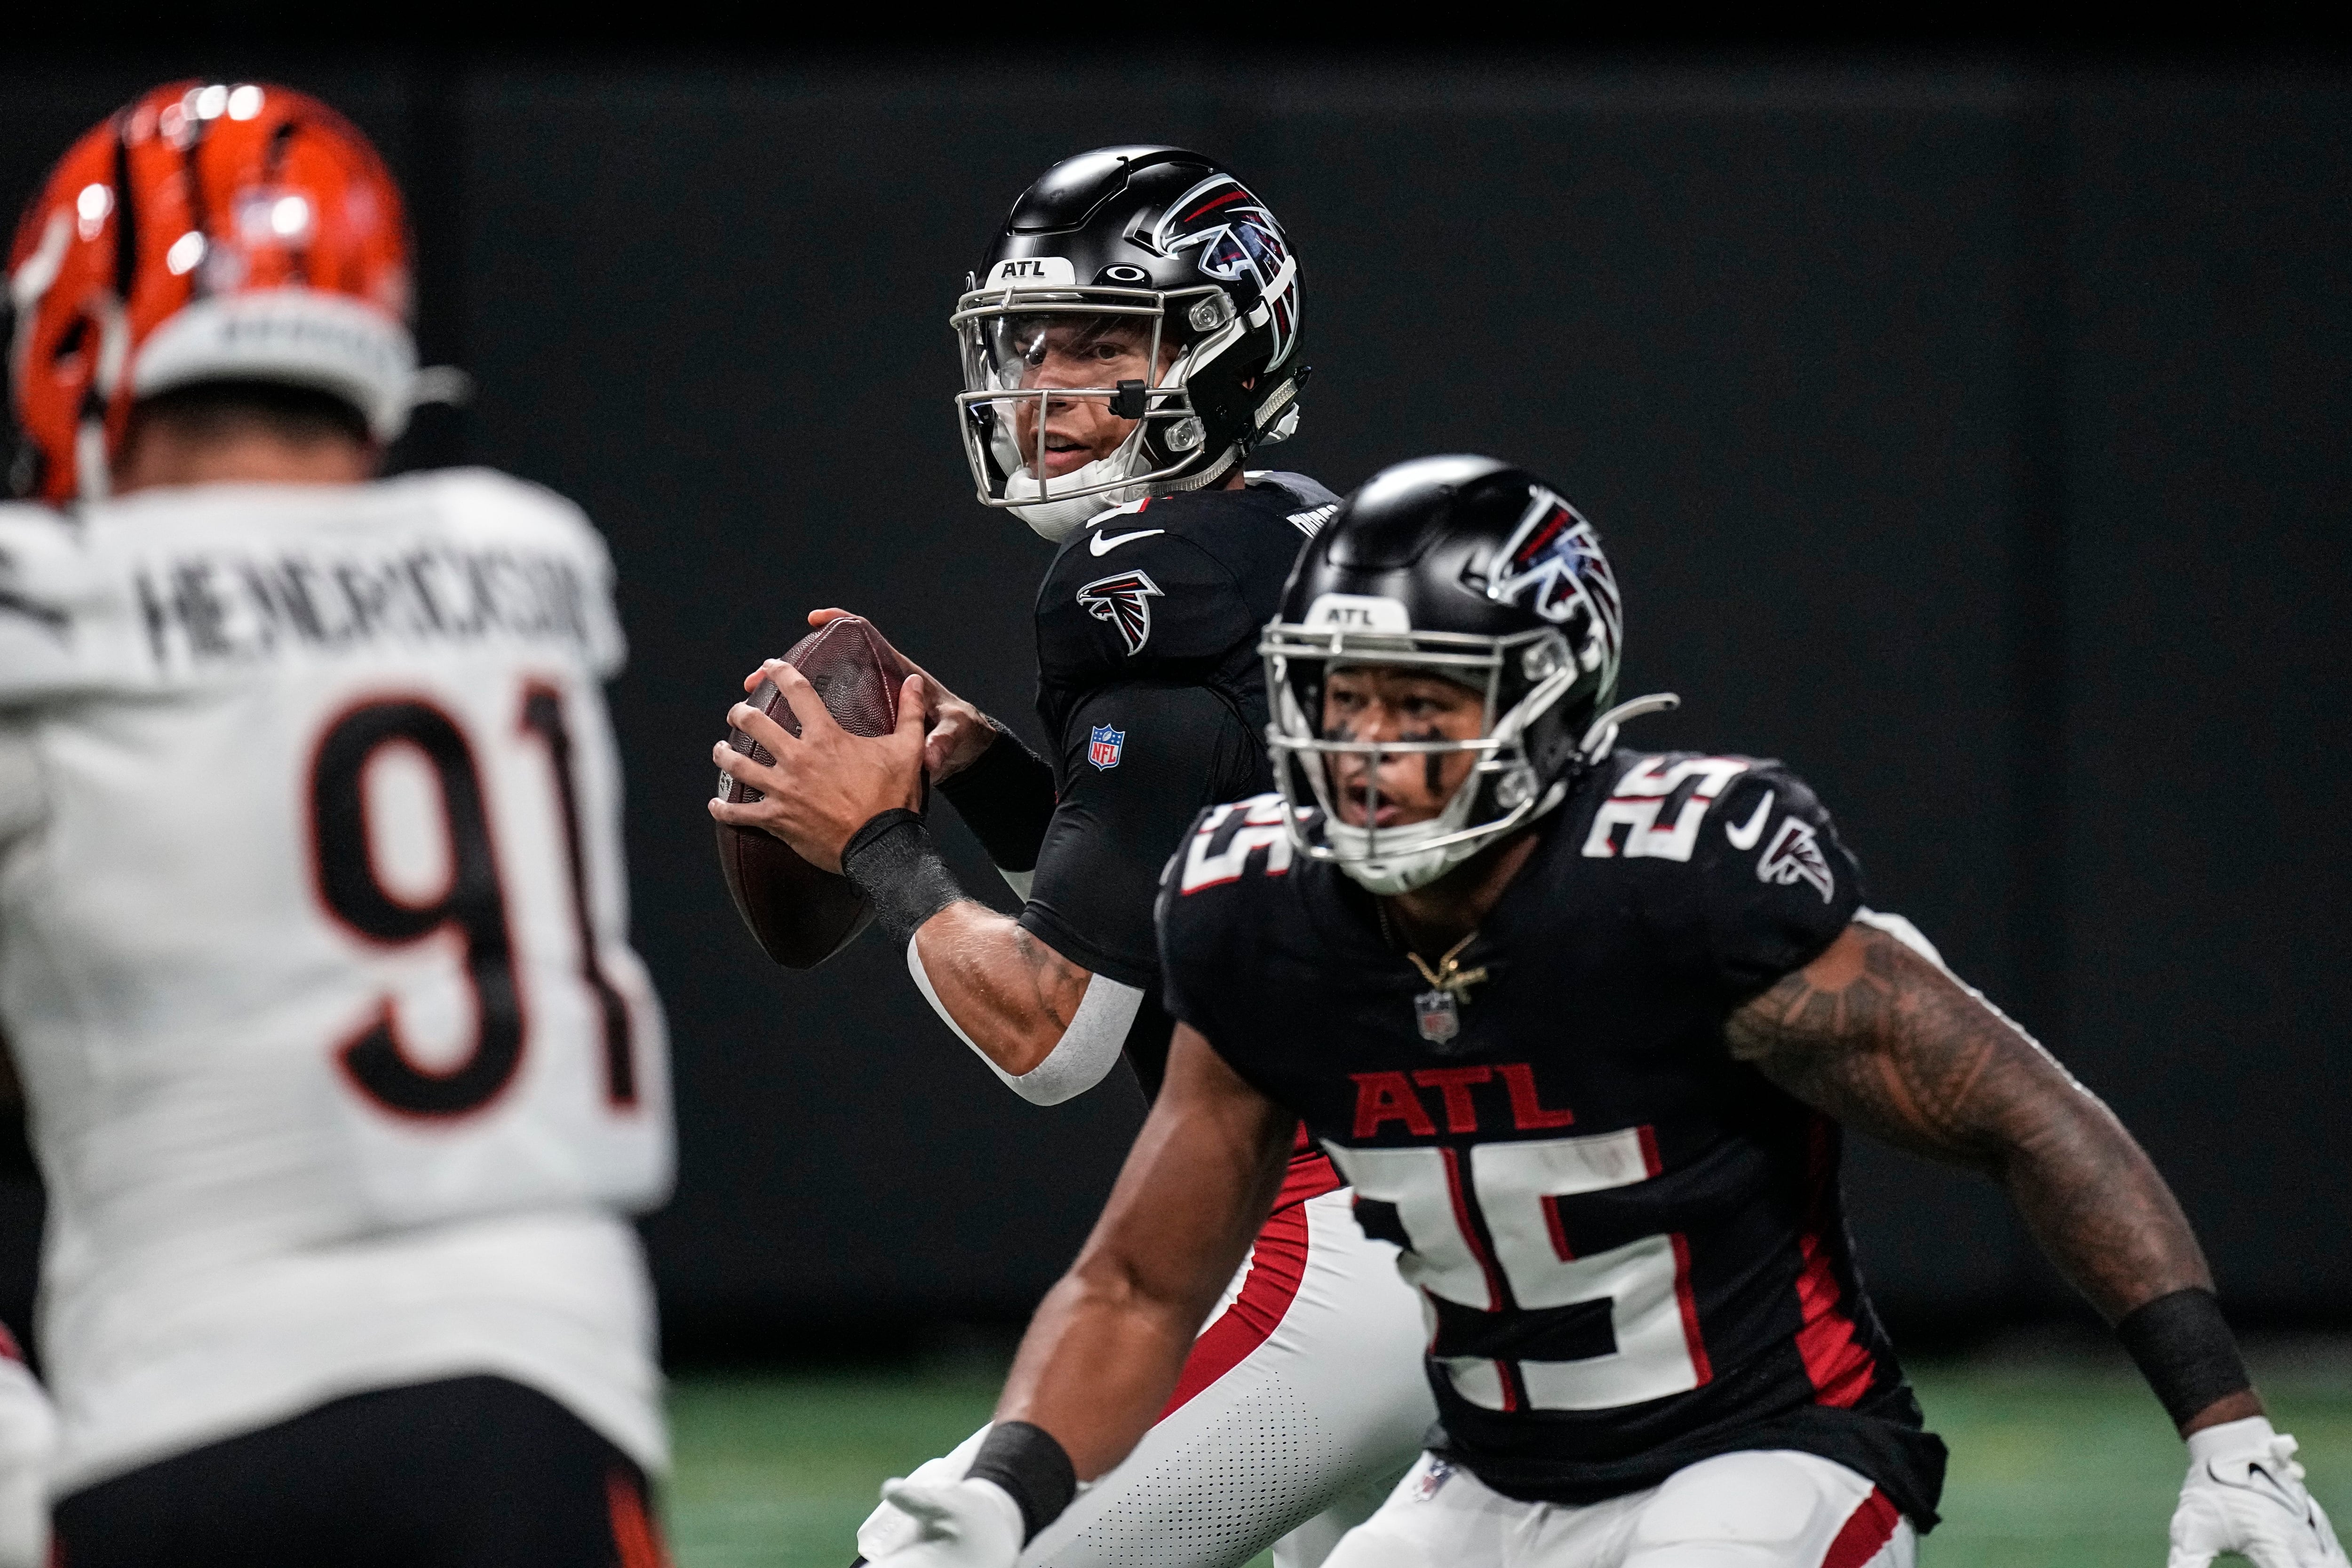
{"label": "orange helmet with black tiger stripes", "polygon": [[16,494],[103,496],[132,402],[195,381],[320,388],[383,442],[409,418],[400,186],[287,87],[169,82],[75,141],[16,226],[9,303]]}

